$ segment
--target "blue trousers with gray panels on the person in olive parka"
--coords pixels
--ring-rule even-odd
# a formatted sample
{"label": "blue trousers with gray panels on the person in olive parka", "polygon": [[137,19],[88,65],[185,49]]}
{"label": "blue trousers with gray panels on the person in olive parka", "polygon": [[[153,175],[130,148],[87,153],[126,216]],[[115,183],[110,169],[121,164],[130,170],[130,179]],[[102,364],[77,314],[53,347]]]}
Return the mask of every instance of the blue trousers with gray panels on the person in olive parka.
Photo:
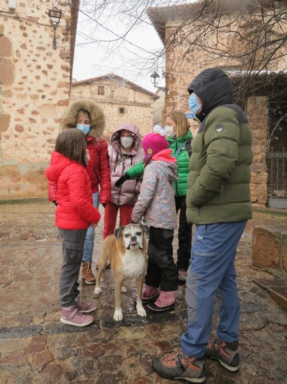
{"label": "blue trousers with gray panels on the person in olive parka", "polygon": [[202,357],[212,330],[214,297],[217,298],[222,342],[238,340],[240,308],[234,260],[246,221],[196,225],[192,259],[186,279],[188,331],[181,347],[189,357]]}

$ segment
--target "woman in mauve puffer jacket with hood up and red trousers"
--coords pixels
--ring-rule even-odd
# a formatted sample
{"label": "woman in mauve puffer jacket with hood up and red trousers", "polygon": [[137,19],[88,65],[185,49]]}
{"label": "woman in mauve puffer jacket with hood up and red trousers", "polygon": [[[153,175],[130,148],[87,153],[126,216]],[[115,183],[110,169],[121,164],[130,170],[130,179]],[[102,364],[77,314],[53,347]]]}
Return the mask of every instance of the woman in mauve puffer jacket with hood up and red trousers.
{"label": "woman in mauve puffer jacket with hood up and red trousers", "polygon": [[127,225],[139,195],[141,178],[127,180],[119,188],[116,180],[123,176],[127,169],[143,160],[145,154],[140,148],[139,129],[136,124],[124,122],[120,124],[111,136],[108,147],[111,169],[111,203],[105,208],[104,239],[112,234],[116,225],[119,210],[119,226]]}

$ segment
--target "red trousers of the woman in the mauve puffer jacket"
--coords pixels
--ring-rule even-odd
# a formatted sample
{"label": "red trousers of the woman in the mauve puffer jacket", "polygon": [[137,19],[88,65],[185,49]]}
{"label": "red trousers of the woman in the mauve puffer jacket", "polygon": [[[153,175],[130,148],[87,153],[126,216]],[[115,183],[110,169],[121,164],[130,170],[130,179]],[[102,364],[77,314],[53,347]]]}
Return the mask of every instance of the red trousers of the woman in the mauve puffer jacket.
{"label": "red trousers of the woman in the mauve puffer jacket", "polygon": [[116,205],[109,203],[105,206],[104,233],[105,239],[109,234],[113,234],[116,225],[116,217],[119,209],[119,226],[130,224],[133,205]]}

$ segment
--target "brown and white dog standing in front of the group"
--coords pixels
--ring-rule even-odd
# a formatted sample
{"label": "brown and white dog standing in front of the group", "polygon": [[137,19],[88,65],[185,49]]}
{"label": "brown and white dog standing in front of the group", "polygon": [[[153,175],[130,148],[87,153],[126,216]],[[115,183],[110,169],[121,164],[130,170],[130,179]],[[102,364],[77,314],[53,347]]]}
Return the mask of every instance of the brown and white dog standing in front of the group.
{"label": "brown and white dog standing in front of the group", "polygon": [[111,264],[114,271],[115,311],[114,320],[123,319],[121,306],[121,291],[127,292],[123,287],[124,280],[136,281],[136,309],[139,316],[146,316],[142,306],[141,295],[143,278],[148,266],[147,237],[149,227],[144,224],[128,224],[117,228],[114,234],[106,237],[101,245],[98,273],[95,280],[94,293],[100,294],[100,279],[102,271]]}

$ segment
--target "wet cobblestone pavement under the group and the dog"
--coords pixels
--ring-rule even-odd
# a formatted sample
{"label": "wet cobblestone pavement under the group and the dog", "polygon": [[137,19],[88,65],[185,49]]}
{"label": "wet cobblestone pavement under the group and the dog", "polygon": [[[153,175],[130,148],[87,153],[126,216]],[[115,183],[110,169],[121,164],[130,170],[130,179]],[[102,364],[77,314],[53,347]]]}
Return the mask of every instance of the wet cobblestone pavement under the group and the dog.
{"label": "wet cobblestone pavement under the group and the dog", "polygon": [[[187,328],[185,286],[174,312],[137,316],[133,283],[123,295],[124,319],[113,321],[113,272],[102,275],[95,321],[79,328],[60,323],[58,280],[61,241],[55,207],[47,201],[0,205],[0,383],[1,384],[168,384],[152,370],[152,359],[177,351]],[[100,208],[103,215],[103,208]],[[236,260],[241,301],[241,368],[229,373],[207,360],[207,384],[285,383],[286,313],[256,279],[273,279],[251,261],[255,225],[286,223],[287,216],[255,211],[238,245]],[[96,229],[94,261],[103,232]],[[175,236],[176,237],[176,236]],[[176,240],[174,243],[176,249]],[[176,253],[176,252],[175,252]],[[94,264],[93,264],[94,270]],[[94,286],[80,279],[82,297],[95,298]],[[214,311],[213,335],[217,314]],[[177,380],[177,382],[185,382]]]}

